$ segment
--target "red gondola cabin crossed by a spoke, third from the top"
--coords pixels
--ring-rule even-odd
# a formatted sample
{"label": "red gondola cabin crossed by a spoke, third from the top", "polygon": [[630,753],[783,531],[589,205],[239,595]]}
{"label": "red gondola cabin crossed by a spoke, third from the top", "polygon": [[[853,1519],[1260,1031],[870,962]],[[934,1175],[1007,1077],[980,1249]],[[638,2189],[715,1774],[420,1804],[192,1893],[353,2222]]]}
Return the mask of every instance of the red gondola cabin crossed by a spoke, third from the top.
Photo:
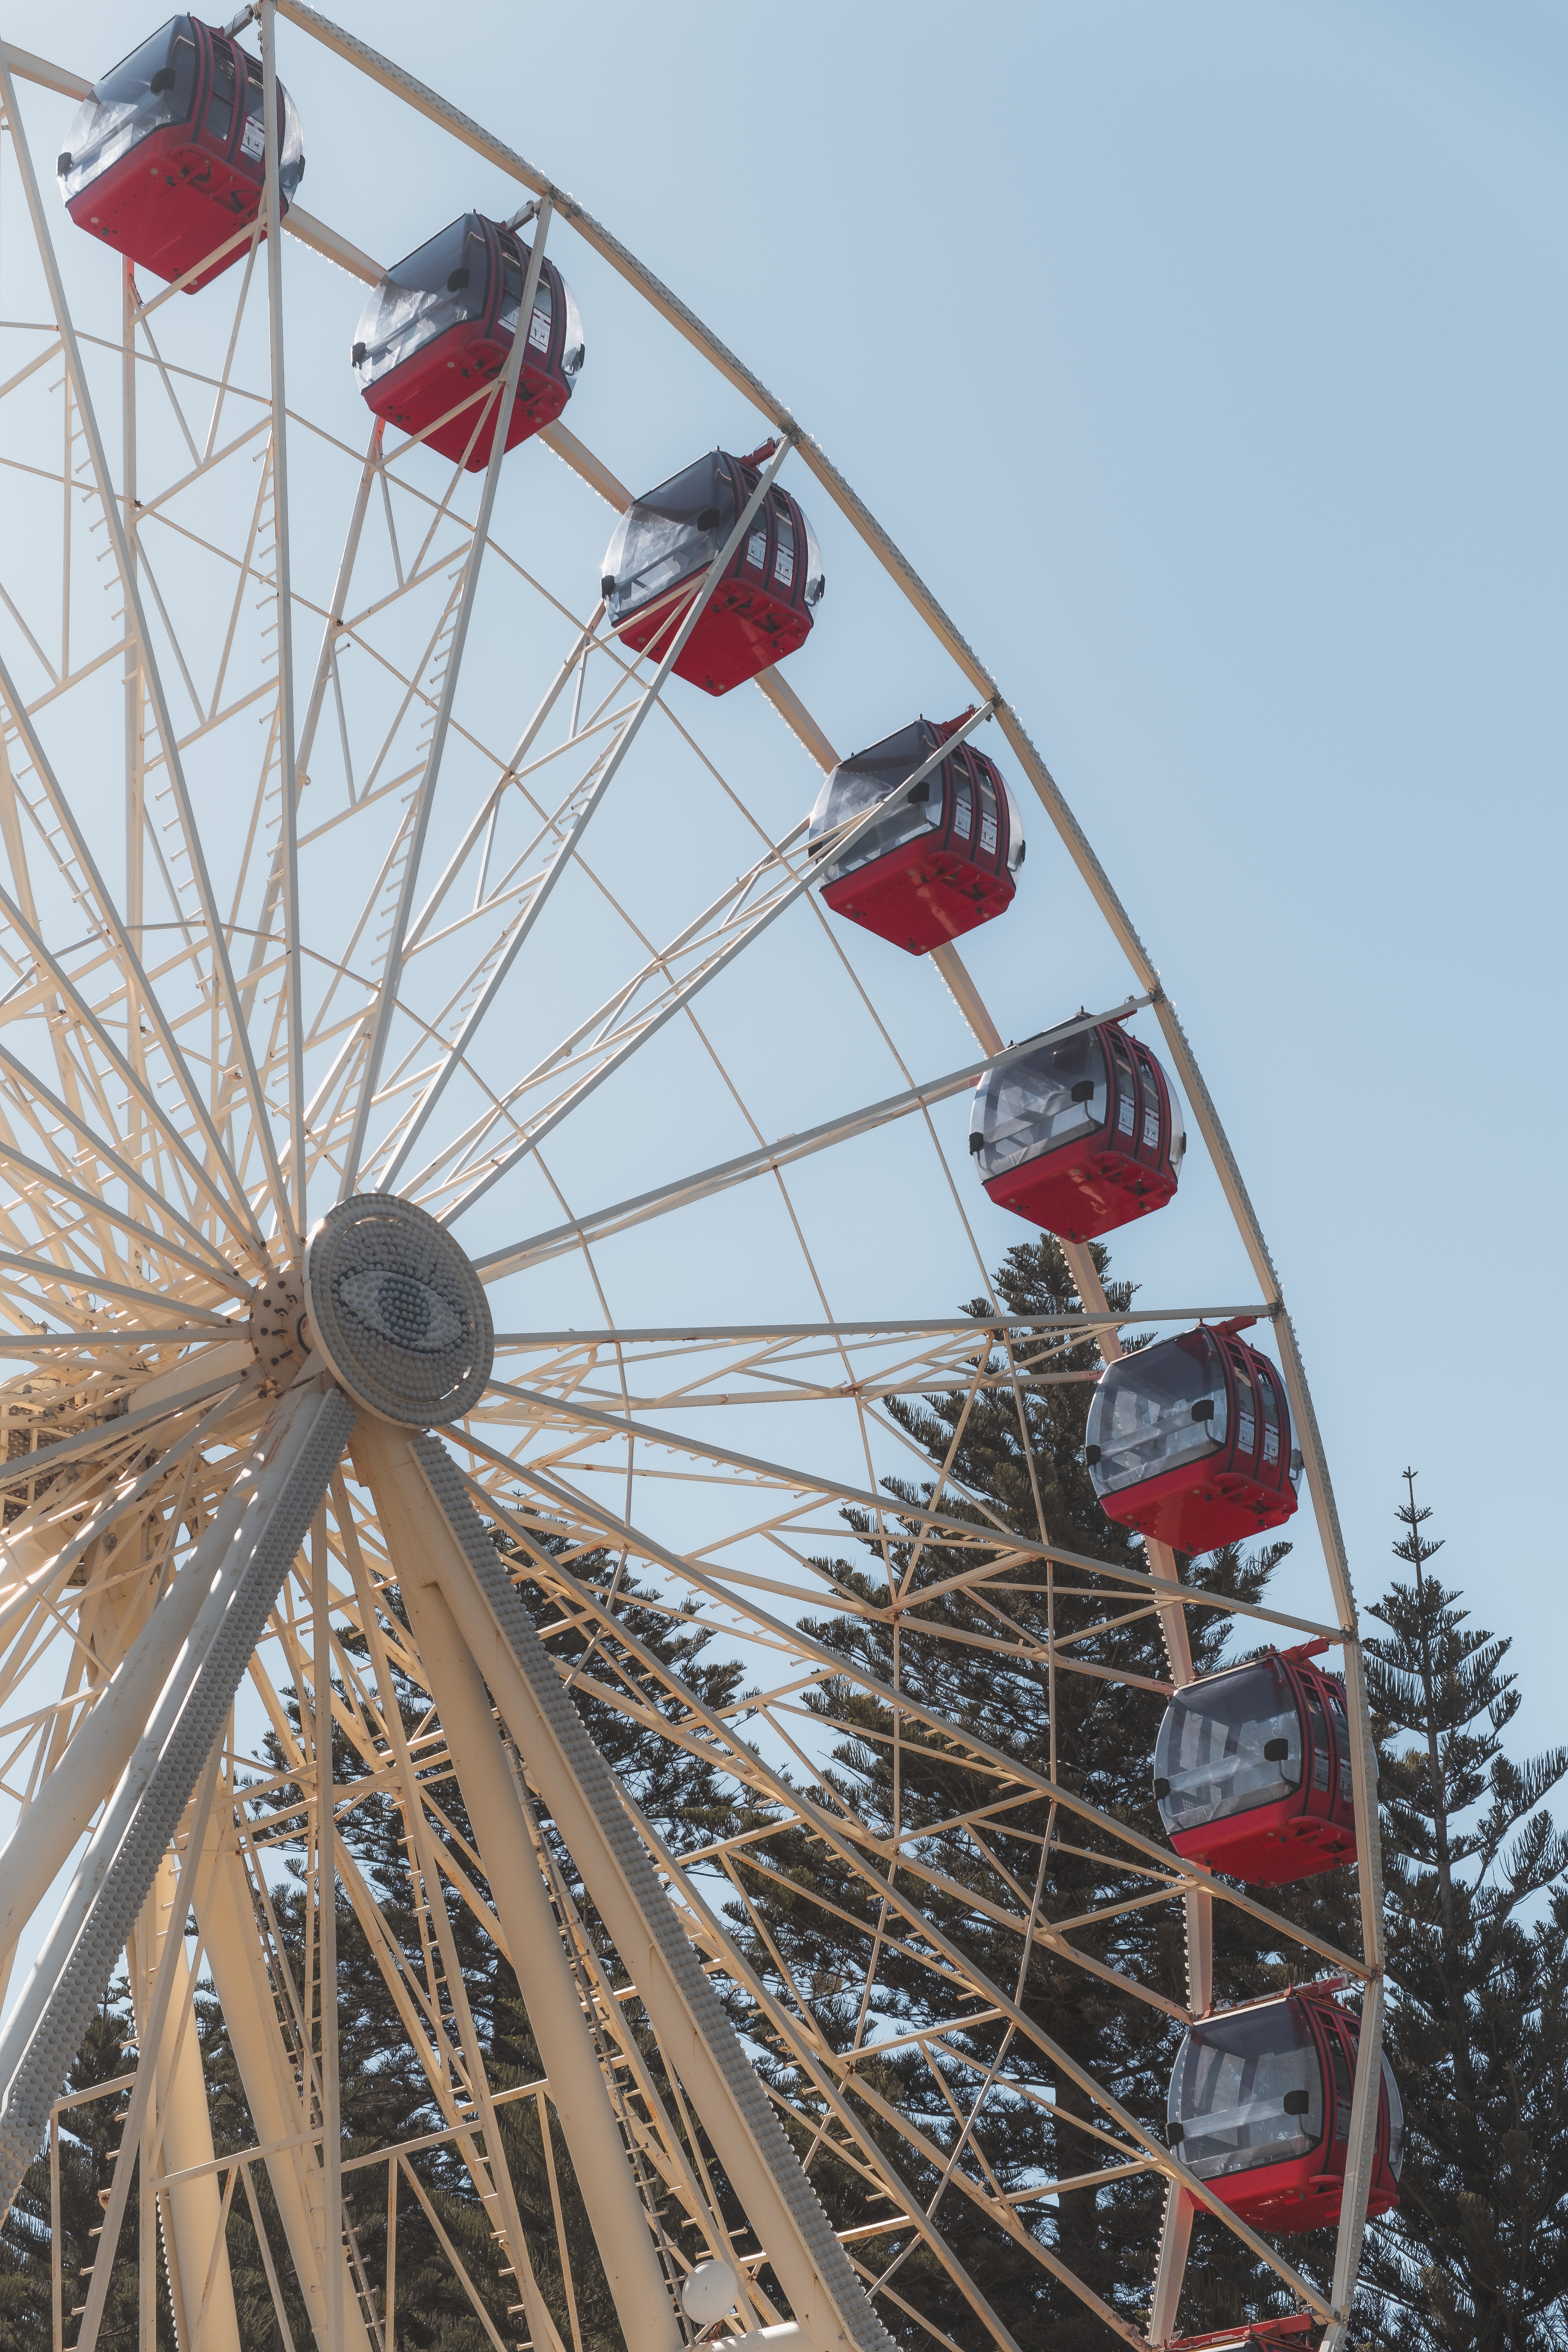
{"label": "red gondola cabin crossed by a spoke, third from the top", "polygon": [[[604,550],[599,593],[611,628],[632,652],[663,661],[773,447],[764,442],[750,456],[710,449],[621,515]],[[823,588],[811,524],[790,492],[771,482],[686,637],[675,675],[703,694],[729,694],[771,670],[811,635]]]}

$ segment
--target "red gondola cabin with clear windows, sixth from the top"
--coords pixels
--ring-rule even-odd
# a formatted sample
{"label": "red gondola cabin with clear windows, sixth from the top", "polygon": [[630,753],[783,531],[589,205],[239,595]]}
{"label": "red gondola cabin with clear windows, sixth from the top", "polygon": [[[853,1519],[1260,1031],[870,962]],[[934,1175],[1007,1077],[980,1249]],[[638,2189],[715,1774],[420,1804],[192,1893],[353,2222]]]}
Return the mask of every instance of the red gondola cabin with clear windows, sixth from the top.
{"label": "red gondola cabin with clear windows, sixth from the top", "polygon": [[1180,1552],[1239,1543],[1295,1512],[1286,1388],[1234,1324],[1199,1324],[1107,1364],[1084,1461],[1107,1519]]}

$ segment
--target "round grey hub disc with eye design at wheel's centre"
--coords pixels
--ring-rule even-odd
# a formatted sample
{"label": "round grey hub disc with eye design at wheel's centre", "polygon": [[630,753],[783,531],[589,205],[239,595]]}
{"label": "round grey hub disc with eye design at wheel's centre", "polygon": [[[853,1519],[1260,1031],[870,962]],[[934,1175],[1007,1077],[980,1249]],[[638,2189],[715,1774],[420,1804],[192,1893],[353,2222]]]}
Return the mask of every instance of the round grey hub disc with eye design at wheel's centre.
{"label": "round grey hub disc with eye design at wheel's centre", "polygon": [[451,1235],[395,1192],[355,1192],[306,1249],[310,1338],[355,1404],[428,1430],[484,1395],[484,1284]]}

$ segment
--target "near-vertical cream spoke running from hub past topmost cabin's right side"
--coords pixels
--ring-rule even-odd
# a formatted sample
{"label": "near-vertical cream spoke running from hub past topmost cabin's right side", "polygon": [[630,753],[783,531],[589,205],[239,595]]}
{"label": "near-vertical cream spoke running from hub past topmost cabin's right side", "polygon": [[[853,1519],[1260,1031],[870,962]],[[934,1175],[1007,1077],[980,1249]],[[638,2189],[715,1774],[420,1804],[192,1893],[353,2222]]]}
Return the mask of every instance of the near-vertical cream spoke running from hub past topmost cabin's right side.
{"label": "near-vertical cream spoke running from hub past topmost cabin's right side", "polygon": [[[273,579],[277,593],[277,788],[282,795],[282,929],[289,1000],[292,1242],[306,1230],[306,1007],[299,953],[299,783],[294,771],[294,583],[289,572],[289,412],[282,372],[282,186],[277,181],[277,9],[261,7],[261,111],[266,155],[266,306],[273,358]],[[336,2277],[336,2267],[327,2272]]]}

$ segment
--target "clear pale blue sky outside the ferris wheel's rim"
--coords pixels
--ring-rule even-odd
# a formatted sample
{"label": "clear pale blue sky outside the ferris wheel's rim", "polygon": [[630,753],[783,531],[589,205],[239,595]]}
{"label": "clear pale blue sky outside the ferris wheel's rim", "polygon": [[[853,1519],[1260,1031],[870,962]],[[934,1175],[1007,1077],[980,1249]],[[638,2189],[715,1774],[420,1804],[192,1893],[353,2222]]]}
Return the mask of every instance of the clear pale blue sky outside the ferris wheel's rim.
{"label": "clear pale blue sky outside the ferris wheel's rim", "polygon": [[[684,294],[1001,680],[1227,1120],[1361,1597],[1413,1463],[1547,1743],[1561,1416],[1505,1369],[1563,1310],[1563,12],[336,14]],[[99,73],[141,19],[12,0],[5,28]],[[301,202],[383,259],[496,198],[425,193],[369,122],[306,136]],[[625,466],[672,470],[675,395],[616,397]]]}

